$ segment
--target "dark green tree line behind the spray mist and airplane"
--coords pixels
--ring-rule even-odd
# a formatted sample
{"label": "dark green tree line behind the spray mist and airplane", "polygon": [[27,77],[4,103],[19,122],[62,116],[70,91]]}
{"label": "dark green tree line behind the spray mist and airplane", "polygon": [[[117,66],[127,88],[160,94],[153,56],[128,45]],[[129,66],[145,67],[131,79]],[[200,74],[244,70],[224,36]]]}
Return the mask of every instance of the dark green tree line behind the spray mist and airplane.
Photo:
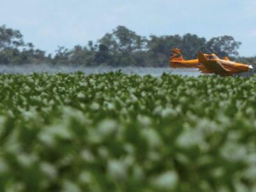
{"label": "dark green tree line behind the spray mist and airplane", "polygon": [[0,26],[0,65],[52,64],[95,67],[140,66],[167,67],[170,49],[178,47],[184,59],[196,58],[198,51],[228,56],[236,61],[256,65],[256,56],[239,57],[239,46],[232,36],[218,36],[210,40],[187,33],[186,35],[140,36],[125,26],[117,26],[97,42],[76,45],[72,49],[58,47],[56,54],[46,54],[26,43],[19,30]]}

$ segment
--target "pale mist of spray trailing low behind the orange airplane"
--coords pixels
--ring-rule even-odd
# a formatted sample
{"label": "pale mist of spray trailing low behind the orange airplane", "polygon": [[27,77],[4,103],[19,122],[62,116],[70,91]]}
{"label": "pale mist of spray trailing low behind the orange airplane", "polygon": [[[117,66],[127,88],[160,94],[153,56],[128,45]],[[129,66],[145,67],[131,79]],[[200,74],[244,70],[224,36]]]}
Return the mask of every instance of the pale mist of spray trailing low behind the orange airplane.
{"label": "pale mist of spray trailing low behind the orange airplane", "polygon": [[184,76],[199,76],[200,72],[195,69],[179,69],[179,68],[159,68],[159,67],[82,67],[82,66],[68,66],[68,65],[0,65],[0,74],[31,74],[33,72],[42,73],[47,72],[49,74],[61,73],[74,73],[84,72],[84,74],[103,74],[107,72],[115,72],[121,70],[125,74],[138,74],[141,76],[161,76],[163,73],[166,74],[179,74]]}

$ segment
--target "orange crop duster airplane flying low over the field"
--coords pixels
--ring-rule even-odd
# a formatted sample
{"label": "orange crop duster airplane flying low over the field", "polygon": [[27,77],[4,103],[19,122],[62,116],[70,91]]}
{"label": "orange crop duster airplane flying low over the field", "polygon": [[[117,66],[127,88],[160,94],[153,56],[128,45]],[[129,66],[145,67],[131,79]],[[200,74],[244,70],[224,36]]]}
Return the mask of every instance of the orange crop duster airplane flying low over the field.
{"label": "orange crop duster airplane flying low over the field", "polygon": [[198,53],[195,60],[183,60],[179,49],[171,49],[173,56],[170,58],[170,67],[173,68],[198,68],[206,74],[218,74],[221,76],[232,76],[236,73],[248,72],[253,69],[252,65],[236,63],[227,57],[222,60],[216,54]]}

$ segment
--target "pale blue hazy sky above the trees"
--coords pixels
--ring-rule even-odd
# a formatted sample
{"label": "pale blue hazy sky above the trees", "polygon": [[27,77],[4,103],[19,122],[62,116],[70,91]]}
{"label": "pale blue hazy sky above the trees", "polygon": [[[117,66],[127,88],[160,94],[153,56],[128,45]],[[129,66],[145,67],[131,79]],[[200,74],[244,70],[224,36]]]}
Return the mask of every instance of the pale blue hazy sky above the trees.
{"label": "pale blue hazy sky above the trees", "polygon": [[231,35],[240,56],[256,55],[255,0],[0,0],[0,26],[54,53],[96,42],[122,25],[138,35]]}

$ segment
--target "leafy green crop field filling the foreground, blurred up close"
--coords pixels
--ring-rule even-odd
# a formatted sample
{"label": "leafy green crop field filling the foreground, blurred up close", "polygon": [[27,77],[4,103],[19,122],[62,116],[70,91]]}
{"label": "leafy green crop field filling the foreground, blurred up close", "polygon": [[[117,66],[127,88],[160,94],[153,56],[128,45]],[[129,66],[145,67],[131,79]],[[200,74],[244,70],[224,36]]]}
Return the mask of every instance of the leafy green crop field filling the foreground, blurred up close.
{"label": "leafy green crop field filling the foreground, blurred up close", "polygon": [[256,76],[0,75],[0,191],[256,191]]}

